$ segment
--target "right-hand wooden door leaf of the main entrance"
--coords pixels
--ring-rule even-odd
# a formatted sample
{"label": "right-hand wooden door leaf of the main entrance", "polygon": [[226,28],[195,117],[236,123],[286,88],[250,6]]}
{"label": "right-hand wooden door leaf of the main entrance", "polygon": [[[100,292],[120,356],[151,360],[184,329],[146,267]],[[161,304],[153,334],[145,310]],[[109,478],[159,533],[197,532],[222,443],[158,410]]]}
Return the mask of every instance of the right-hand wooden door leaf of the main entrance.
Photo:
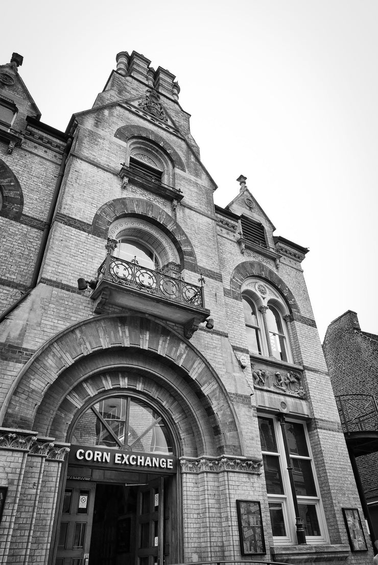
{"label": "right-hand wooden door leaf of the main entrance", "polygon": [[136,506],[135,565],[163,565],[164,479],[140,487]]}

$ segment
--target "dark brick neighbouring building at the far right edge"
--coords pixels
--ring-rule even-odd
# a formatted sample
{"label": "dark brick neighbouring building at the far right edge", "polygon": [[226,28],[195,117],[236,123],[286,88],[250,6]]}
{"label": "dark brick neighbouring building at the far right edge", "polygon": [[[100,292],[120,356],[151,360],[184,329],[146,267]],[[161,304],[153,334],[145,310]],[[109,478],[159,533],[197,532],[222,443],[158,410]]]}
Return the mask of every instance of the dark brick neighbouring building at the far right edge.
{"label": "dark brick neighbouring building at the far right edge", "polygon": [[378,336],[363,332],[348,310],[329,324],[323,350],[364,514],[378,540]]}

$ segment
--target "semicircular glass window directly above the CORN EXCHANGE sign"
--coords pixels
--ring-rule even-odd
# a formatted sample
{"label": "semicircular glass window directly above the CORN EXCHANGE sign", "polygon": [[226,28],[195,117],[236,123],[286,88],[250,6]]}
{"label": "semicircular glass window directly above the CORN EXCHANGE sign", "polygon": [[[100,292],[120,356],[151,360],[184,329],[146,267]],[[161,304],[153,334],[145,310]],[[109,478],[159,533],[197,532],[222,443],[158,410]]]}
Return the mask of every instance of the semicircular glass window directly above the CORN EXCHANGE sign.
{"label": "semicircular glass window directly above the CORN EXCHANGE sign", "polygon": [[132,396],[112,396],[92,404],[75,424],[71,442],[173,454],[171,434],[162,416]]}

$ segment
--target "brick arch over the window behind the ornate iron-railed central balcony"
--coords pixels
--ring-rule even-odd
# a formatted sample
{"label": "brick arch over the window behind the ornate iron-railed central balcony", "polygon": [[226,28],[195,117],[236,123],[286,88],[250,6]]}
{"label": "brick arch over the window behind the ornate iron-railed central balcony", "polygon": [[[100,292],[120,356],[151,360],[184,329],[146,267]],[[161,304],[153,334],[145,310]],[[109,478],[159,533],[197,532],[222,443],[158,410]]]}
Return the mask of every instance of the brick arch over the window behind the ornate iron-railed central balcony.
{"label": "brick arch over the window behind the ornate iron-railed central balcony", "polygon": [[181,226],[165,210],[143,198],[116,198],[98,208],[92,221],[94,236],[108,237],[109,226],[118,218],[136,216],[148,219],[173,240],[184,269],[197,271],[197,259],[193,246]]}

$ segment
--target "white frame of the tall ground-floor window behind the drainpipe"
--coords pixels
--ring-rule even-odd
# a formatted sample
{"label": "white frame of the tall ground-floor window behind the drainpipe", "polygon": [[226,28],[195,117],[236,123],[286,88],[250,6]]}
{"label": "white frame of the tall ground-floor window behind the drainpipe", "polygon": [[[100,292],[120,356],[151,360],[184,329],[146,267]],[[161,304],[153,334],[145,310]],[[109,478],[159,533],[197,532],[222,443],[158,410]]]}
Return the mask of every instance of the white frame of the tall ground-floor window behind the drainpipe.
{"label": "white frame of the tall ground-floor window behind the drainpipe", "polygon": [[[259,430],[260,430],[261,419],[273,421],[273,431],[274,431],[274,436],[276,438],[276,444],[277,444],[277,450],[278,451],[277,452],[264,451],[263,446],[261,446],[261,453],[263,455],[271,455],[273,457],[278,457],[282,486],[283,486],[283,490],[284,490],[284,494],[272,494],[272,493],[267,492],[268,504],[274,503],[274,502],[280,502],[282,504],[282,512],[283,512],[283,515],[284,515],[284,524],[285,524],[285,528],[286,528],[286,536],[273,536],[273,544],[275,544],[275,545],[296,545],[297,544],[297,534],[296,534],[296,528],[295,528],[294,502],[293,502],[293,496],[292,496],[292,493],[291,493],[289,472],[287,471],[285,446],[284,446],[284,440],[283,440],[283,437],[282,437],[281,425],[280,425],[277,418],[275,418],[274,416],[269,415],[269,414],[259,414],[258,419],[259,419]],[[329,541],[328,529],[327,529],[327,523],[325,521],[323,503],[321,502],[319,482],[317,481],[316,469],[315,469],[315,464],[314,464],[314,461],[313,461],[313,455],[312,455],[312,451],[311,451],[311,444],[310,444],[310,438],[308,436],[307,425],[304,421],[295,420],[295,419],[292,419],[292,418],[287,418],[286,424],[290,424],[290,423],[302,425],[303,431],[304,431],[304,438],[306,440],[306,446],[307,446],[307,451],[308,451],[308,456],[290,454],[290,458],[303,459],[303,460],[310,461],[313,483],[315,485],[315,489],[316,489],[316,493],[317,493],[316,497],[302,496],[302,495],[297,494],[298,506],[304,505],[304,504],[315,506],[317,521],[319,523],[319,528],[320,528],[320,536],[307,536],[306,535],[306,541],[307,541],[308,544],[311,544],[311,545],[324,545],[324,544],[327,544],[328,541]],[[264,474],[266,475],[265,468],[264,468]],[[269,516],[270,516],[270,512],[269,512]]]}

